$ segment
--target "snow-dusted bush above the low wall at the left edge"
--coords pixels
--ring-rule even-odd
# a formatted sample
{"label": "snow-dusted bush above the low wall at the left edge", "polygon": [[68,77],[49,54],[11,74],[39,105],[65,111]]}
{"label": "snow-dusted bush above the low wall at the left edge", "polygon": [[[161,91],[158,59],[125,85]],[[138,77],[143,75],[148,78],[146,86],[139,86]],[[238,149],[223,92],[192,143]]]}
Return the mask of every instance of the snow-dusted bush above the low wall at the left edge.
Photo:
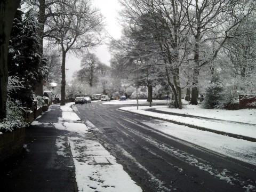
{"label": "snow-dusted bush above the low wall at the left edge", "polygon": [[13,131],[15,128],[26,126],[27,123],[22,117],[22,113],[25,110],[21,107],[21,102],[13,100],[10,97],[10,93],[15,92],[22,88],[22,83],[18,81],[18,77],[10,76],[7,85],[7,102],[6,102],[6,118],[0,122],[0,132]]}

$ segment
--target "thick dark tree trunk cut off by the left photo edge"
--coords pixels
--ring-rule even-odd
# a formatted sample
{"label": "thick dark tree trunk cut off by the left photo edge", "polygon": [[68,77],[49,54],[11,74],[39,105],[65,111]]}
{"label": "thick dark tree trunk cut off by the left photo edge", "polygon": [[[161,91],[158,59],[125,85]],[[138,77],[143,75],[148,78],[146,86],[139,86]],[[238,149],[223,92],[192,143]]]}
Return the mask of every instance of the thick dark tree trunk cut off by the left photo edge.
{"label": "thick dark tree trunk cut off by the left photo edge", "polygon": [[0,119],[6,117],[8,46],[14,15],[20,2],[21,0],[0,1]]}

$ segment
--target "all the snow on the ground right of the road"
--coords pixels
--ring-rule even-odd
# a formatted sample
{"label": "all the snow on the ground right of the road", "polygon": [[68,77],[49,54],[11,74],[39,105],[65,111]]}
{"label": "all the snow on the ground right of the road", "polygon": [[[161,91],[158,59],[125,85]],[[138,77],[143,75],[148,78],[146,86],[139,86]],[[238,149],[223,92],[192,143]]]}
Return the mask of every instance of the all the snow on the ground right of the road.
{"label": "all the snow on the ground right of the road", "polygon": [[[135,100],[136,101],[136,100]],[[134,100],[105,102],[105,104],[115,105],[116,103],[128,103],[135,104]],[[146,103],[145,100],[139,100],[139,104]],[[201,117],[214,118],[216,120],[195,119],[191,117],[181,117],[174,115],[159,114],[145,109],[154,108],[157,110],[163,110],[171,113],[196,115]],[[243,109],[243,110],[209,110],[202,109],[198,106],[184,106],[184,109],[171,109],[167,106],[139,106],[137,107],[123,107],[122,110],[131,111],[133,113],[148,115],[152,117],[158,117],[160,119],[167,119],[175,122],[186,123],[190,125],[196,125],[205,127],[207,129],[218,130],[222,132],[234,133],[238,135],[244,135],[251,138],[256,138],[256,110],[255,109]],[[226,120],[228,122],[219,122],[217,119]],[[166,121],[155,120],[154,123],[142,122],[150,127],[150,130],[156,132],[162,132],[165,135],[171,135],[172,137],[179,138],[197,146],[204,147],[206,149],[216,151],[219,154],[226,155],[239,159],[241,161],[256,165],[256,142],[246,141],[242,139],[236,139],[227,137],[225,135],[215,134],[213,132],[207,132],[202,130],[193,129],[183,125],[177,125]],[[241,124],[242,123],[242,124]],[[246,124],[250,123],[250,124]],[[148,129],[146,126],[144,129]],[[167,136],[166,136],[167,137]]]}

